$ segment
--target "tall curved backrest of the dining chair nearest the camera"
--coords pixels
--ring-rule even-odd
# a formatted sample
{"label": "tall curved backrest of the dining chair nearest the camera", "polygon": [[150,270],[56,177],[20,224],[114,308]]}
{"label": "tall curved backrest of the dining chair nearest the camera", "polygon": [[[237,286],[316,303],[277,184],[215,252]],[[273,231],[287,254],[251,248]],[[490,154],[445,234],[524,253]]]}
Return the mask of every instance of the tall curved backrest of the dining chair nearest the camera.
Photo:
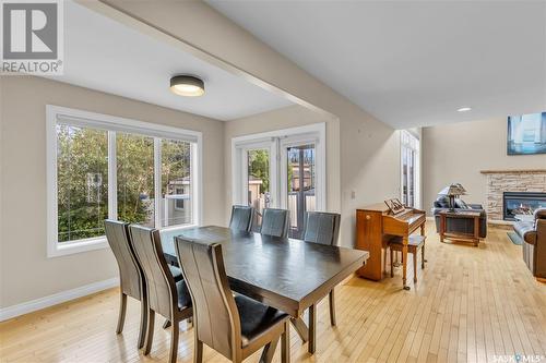
{"label": "tall curved backrest of the dining chair nearest the camera", "polygon": [[230,359],[241,330],[222,245],[177,237],[175,246],[193,303],[197,338]]}

